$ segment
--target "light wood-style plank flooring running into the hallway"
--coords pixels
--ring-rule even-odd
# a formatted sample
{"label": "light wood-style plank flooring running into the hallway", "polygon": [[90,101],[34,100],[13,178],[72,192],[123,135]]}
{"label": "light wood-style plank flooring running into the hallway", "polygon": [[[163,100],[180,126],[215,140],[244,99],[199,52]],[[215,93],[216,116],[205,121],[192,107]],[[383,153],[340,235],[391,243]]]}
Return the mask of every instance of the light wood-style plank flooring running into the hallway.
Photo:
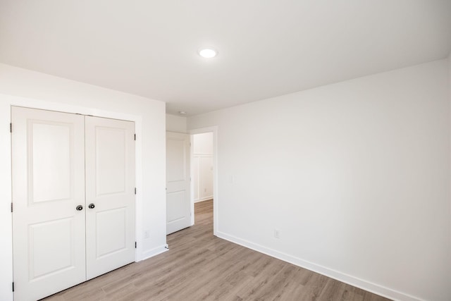
{"label": "light wood-style plank flooring running into the hallway", "polygon": [[213,202],[170,250],[52,295],[63,300],[388,300],[213,236]]}

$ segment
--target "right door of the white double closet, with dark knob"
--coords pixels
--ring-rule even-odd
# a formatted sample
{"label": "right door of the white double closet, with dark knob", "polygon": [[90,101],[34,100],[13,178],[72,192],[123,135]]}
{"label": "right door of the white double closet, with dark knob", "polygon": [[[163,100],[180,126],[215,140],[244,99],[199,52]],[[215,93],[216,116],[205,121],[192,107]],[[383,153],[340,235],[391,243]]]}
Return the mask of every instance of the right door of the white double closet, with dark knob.
{"label": "right door of the white double closet, with dark knob", "polygon": [[89,280],[135,261],[135,124],[85,118]]}

